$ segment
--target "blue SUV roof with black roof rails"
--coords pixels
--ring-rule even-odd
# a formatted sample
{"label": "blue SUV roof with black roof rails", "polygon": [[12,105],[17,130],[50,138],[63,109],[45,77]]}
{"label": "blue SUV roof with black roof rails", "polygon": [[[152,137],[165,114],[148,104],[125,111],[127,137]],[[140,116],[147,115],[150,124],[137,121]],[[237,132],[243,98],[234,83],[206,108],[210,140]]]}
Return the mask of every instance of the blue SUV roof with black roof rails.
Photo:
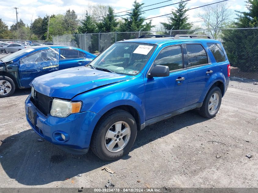
{"label": "blue SUV roof with black roof rails", "polygon": [[173,39],[173,37],[163,37],[163,38],[138,38],[138,39],[129,39],[118,42],[135,42],[135,43],[145,43],[145,44],[155,44],[162,45],[167,43],[177,43],[177,42],[187,42],[187,41],[208,41],[208,42],[219,42],[218,40],[209,39],[209,38],[179,38]]}

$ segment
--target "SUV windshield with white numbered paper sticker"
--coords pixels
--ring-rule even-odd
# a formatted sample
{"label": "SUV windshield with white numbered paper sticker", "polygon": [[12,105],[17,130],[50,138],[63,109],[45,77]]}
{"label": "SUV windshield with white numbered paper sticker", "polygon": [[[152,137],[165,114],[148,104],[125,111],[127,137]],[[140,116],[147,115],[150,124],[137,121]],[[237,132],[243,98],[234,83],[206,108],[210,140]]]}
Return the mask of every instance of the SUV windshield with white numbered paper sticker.
{"label": "SUV windshield with white numbered paper sticker", "polygon": [[[111,45],[90,64],[96,69],[105,68],[115,73],[135,75],[150,58],[155,45],[119,42]],[[90,66],[88,66],[90,68]]]}

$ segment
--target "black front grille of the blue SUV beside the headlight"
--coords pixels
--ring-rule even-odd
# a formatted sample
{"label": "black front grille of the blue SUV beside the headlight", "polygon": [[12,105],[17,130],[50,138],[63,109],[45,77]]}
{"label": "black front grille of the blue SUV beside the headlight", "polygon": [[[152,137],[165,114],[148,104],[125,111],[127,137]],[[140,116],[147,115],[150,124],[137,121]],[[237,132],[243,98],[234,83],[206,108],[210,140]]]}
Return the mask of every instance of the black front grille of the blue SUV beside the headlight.
{"label": "black front grille of the blue SUV beside the headlight", "polygon": [[37,91],[35,91],[34,98],[31,98],[31,102],[45,116],[47,116],[50,113],[52,101],[53,99],[51,97],[43,95]]}

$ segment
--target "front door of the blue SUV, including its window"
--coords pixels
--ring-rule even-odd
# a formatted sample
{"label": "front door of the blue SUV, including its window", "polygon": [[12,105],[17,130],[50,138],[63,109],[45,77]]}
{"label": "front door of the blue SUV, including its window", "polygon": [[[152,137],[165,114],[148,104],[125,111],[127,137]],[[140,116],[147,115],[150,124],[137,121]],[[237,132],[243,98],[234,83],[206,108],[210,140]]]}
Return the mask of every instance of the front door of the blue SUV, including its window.
{"label": "front door of the blue SUV, including its window", "polygon": [[168,66],[170,73],[168,77],[145,78],[146,120],[184,108],[186,99],[188,73],[182,46],[161,48],[152,67],[156,65]]}

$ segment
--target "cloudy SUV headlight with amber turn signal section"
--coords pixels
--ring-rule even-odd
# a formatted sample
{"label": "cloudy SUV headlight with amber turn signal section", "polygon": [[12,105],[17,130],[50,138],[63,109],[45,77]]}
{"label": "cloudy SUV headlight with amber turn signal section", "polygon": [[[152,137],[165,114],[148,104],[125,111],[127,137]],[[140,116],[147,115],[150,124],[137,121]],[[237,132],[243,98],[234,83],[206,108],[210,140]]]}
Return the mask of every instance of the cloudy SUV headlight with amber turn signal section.
{"label": "cloudy SUV headlight with amber turn signal section", "polygon": [[55,98],[52,102],[50,114],[57,117],[66,117],[71,113],[79,113],[81,106],[81,102],[64,101]]}

